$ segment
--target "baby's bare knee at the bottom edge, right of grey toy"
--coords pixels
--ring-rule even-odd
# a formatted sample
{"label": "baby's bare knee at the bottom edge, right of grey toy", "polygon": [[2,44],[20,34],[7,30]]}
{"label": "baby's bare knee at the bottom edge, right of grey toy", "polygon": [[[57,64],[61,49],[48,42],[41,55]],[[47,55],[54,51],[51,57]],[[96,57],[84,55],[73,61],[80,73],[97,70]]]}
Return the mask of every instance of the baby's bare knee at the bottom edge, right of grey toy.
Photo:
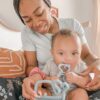
{"label": "baby's bare knee at the bottom edge, right of grey toy", "polygon": [[89,100],[89,97],[85,89],[76,88],[68,93],[66,100]]}

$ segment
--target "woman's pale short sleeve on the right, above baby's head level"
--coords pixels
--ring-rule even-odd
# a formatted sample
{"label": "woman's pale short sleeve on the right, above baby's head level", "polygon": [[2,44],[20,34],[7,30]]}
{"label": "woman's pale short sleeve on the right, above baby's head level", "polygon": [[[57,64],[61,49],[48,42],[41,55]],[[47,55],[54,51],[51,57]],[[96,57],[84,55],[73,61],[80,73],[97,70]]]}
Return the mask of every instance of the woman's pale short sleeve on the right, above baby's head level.
{"label": "woman's pale short sleeve on the right, above baby's head level", "polygon": [[78,35],[79,35],[79,37],[80,37],[80,40],[81,40],[82,44],[87,43],[87,40],[86,40],[86,38],[85,38],[85,31],[84,31],[82,25],[81,25],[81,24],[79,23],[79,21],[76,20],[76,19],[74,19],[73,22],[74,22],[74,23],[73,23],[73,25],[74,25],[74,31],[76,31],[76,32],[79,33]]}

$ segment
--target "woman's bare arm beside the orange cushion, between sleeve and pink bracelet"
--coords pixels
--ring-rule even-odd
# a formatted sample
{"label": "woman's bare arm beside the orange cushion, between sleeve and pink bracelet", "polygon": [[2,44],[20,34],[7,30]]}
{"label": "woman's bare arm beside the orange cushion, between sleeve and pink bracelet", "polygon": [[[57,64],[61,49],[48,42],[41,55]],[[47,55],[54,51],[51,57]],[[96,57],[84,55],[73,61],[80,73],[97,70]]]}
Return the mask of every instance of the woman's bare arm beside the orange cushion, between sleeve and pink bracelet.
{"label": "woman's bare arm beside the orange cushion, between sleeve and pink bracelet", "polygon": [[26,75],[28,76],[30,71],[38,66],[37,64],[37,57],[35,51],[24,51],[24,55],[27,62],[27,68],[26,68]]}

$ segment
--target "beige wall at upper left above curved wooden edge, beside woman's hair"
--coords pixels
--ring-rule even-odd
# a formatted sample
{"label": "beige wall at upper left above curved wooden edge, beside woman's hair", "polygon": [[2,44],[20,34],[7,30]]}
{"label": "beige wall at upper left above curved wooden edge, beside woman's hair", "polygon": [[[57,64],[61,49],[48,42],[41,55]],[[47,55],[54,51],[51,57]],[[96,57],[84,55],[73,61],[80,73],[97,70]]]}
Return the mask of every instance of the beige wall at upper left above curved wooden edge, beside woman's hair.
{"label": "beige wall at upper left above curved wooden edge, beside woman's hair", "polygon": [[0,19],[13,29],[20,30],[22,28],[22,23],[13,8],[13,0],[0,0]]}

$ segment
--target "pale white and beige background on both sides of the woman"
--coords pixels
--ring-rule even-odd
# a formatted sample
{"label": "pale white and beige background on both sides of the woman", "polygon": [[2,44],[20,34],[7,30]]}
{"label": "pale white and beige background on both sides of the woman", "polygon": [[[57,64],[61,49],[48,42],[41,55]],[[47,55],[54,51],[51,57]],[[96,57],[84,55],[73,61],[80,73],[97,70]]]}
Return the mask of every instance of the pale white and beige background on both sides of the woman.
{"label": "pale white and beige background on both sides of the woman", "polygon": [[[0,20],[16,30],[21,31],[23,25],[16,13],[14,12],[13,0],[0,0]],[[86,38],[92,51],[94,48],[93,23],[95,22],[94,0],[51,0],[52,5],[59,9],[59,17],[76,18],[80,22],[91,21],[92,27],[85,28]],[[10,48],[13,50],[21,49],[20,32],[11,32],[4,30],[0,26],[0,47]]]}

